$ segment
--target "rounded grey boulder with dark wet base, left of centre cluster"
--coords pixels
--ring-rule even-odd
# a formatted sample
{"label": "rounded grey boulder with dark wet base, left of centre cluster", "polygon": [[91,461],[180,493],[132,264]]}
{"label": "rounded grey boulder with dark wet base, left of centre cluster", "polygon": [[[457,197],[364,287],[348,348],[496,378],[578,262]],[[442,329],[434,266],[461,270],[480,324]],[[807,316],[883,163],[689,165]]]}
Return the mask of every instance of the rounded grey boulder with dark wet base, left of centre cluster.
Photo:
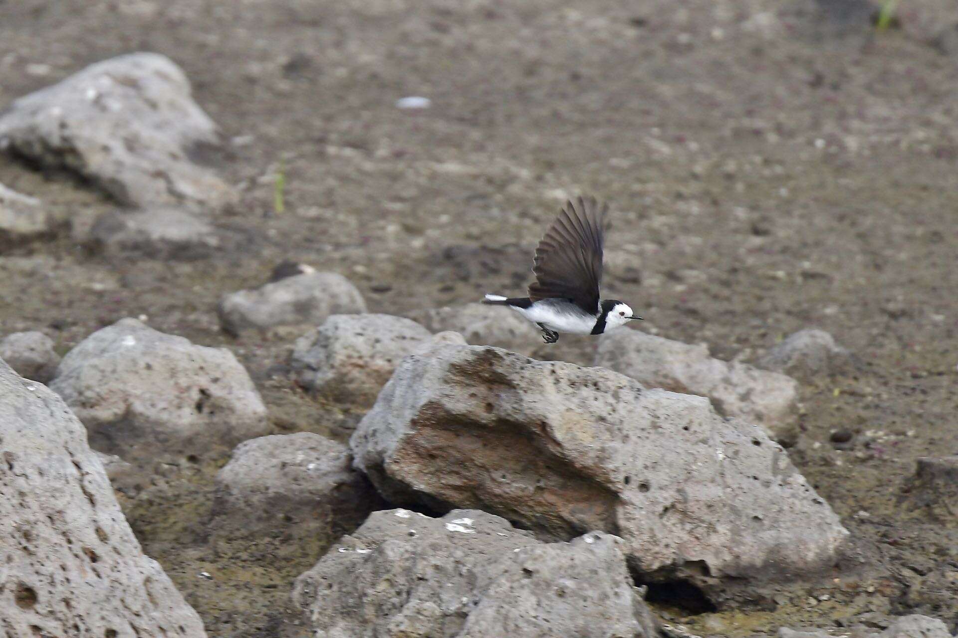
{"label": "rounded grey boulder with dark wet base, left of centre cluster", "polygon": [[266,408],[233,353],[121,319],[63,358],[50,384],[90,445],[134,465],[225,454],[266,433]]}

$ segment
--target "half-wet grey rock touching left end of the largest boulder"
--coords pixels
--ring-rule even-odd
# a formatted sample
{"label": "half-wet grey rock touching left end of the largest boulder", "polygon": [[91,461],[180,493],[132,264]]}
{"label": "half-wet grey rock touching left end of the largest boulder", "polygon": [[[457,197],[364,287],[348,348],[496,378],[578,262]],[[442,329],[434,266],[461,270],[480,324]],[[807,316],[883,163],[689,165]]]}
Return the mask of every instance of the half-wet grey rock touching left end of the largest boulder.
{"label": "half-wet grey rock touching left end of the largest boulder", "polygon": [[349,448],[311,432],[240,443],[217,473],[214,524],[255,536],[351,532],[379,505]]}

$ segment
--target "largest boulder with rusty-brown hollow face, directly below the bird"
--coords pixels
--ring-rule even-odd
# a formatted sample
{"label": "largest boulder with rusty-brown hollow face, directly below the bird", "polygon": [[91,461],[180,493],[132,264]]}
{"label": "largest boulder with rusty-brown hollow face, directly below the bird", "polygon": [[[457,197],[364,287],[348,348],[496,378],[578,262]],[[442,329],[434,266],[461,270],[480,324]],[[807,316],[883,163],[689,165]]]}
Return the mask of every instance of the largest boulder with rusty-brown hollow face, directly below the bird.
{"label": "largest boulder with rusty-brown hollow face, directly below the bird", "polygon": [[615,533],[644,579],[719,604],[831,567],[848,535],[781,446],[707,399],[498,348],[410,355],[350,445],[391,502]]}

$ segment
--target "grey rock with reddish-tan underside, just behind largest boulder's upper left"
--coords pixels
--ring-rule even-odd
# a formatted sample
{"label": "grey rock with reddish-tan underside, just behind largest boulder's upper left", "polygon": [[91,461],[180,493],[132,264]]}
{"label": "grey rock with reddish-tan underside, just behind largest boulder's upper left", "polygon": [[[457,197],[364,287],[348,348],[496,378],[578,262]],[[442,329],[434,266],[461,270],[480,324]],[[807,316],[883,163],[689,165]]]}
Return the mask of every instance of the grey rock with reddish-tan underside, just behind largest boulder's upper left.
{"label": "grey rock with reddish-tan underside, just behind largest boulder's upper left", "polygon": [[399,361],[432,335],[392,315],[333,315],[296,341],[290,365],[300,385],[333,401],[371,407]]}

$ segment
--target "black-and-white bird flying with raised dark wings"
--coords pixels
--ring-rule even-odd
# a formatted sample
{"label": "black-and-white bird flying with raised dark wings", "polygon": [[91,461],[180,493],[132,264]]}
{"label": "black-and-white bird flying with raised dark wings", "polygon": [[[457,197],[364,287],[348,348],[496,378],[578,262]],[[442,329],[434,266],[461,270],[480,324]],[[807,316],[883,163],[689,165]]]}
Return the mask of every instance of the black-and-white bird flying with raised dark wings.
{"label": "black-and-white bird flying with raised dark wings", "polygon": [[509,306],[555,343],[559,333],[601,335],[642,319],[618,299],[599,298],[608,205],[592,197],[568,201],[536,248],[529,297],[487,295],[483,303]]}

